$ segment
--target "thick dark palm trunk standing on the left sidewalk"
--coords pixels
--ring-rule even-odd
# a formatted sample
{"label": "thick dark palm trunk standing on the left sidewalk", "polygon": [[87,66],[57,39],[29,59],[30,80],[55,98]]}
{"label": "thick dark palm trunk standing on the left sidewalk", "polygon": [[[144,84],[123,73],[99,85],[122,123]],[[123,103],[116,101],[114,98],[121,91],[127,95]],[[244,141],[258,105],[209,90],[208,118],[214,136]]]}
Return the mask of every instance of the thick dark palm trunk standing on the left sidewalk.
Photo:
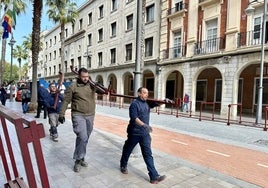
{"label": "thick dark palm trunk standing on the left sidewalk", "polygon": [[37,65],[40,47],[40,28],[42,16],[42,0],[33,1],[33,31],[32,31],[32,96],[29,105],[29,111],[35,111],[37,108]]}

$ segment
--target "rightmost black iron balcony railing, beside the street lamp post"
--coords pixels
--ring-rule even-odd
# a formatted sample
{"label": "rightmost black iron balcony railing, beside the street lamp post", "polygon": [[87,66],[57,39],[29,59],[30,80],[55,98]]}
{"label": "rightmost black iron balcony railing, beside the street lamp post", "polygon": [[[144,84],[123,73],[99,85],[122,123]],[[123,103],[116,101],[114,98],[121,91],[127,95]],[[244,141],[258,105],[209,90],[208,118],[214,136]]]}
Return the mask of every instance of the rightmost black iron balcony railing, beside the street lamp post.
{"label": "rightmost black iron balcony railing, beside the street lamp post", "polygon": [[[254,46],[260,45],[262,41],[261,29],[257,31],[247,31],[243,33],[238,33],[237,35],[237,47],[241,46]],[[267,43],[267,36],[265,39]]]}

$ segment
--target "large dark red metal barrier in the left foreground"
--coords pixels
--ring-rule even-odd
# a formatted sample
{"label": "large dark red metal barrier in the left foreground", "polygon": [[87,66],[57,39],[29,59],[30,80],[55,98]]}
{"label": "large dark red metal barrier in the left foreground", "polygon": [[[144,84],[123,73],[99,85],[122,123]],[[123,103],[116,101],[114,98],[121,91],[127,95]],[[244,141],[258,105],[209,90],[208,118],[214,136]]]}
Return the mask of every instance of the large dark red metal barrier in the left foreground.
{"label": "large dark red metal barrier in the left foreground", "polygon": [[[7,182],[9,183],[15,179],[20,179],[17,168],[18,165],[16,164],[16,158],[14,157],[13,152],[13,148],[15,146],[12,145],[11,142],[11,138],[15,135],[12,135],[12,132],[9,133],[8,129],[9,125],[13,125],[15,126],[18,144],[21,152],[21,158],[23,160],[23,165],[26,172],[28,180],[27,183],[29,187],[37,188],[37,183],[35,179],[36,174],[34,173],[32,159],[28,147],[28,144],[32,143],[42,187],[49,188],[50,185],[40,142],[40,138],[45,137],[43,125],[36,124],[36,121],[34,119],[24,116],[23,114],[16,113],[15,111],[9,110],[2,105],[0,105],[0,119],[4,134],[3,138],[5,140],[4,143],[2,135],[0,135],[0,155],[2,159],[2,164],[4,166]],[[6,147],[4,147],[4,144],[6,144]],[[5,148],[7,148],[8,151],[5,151]],[[10,163],[11,167],[9,167]],[[5,185],[5,187],[7,187],[7,184]]]}

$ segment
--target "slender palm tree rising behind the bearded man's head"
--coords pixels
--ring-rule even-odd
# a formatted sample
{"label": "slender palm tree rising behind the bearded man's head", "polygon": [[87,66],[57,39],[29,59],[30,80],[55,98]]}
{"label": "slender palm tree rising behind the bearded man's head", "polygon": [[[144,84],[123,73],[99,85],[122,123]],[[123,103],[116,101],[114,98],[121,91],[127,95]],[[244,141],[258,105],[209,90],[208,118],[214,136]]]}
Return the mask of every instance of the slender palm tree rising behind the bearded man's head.
{"label": "slender palm tree rising behind the bearded man's head", "polygon": [[[61,73],[64,77],[65,66],[65,54],[64,54],[64,40],[65,40],[65,25],[67,23],[75,23],[78,13],[76,11],[76,3],[70,2],[70,0],[47,0],[46,5],[48,6],[48,17],[50,20],[55,23],[60,23],[61,32],[60,32],[60,41],[61,41]],[[64,79],[63,79],[64,80]]]}

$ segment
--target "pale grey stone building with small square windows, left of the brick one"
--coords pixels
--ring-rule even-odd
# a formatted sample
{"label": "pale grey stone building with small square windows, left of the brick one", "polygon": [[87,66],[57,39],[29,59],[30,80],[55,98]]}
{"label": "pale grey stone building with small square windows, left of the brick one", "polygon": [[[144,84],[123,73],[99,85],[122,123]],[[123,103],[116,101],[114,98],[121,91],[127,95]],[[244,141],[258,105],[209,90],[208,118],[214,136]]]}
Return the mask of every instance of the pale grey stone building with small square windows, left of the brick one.
{"label": "pale grey stone building with small square windows, left of the brick one", "polygon": [[[70,65],[86,67],[92,80],[111,85],[117,93],[133,95],[133,72],[136,61],[137,1],[90,0],[78,9],[75,25],[65,29],[65,81],[76,77]],[[159,57],[161,9],[156,0],[147,0],[144,12],[145,53],[143,83],[154,96],[155,67]],[[41,77],[57,82],[60,67],[60,26],[45,36],[44,73]]]}

